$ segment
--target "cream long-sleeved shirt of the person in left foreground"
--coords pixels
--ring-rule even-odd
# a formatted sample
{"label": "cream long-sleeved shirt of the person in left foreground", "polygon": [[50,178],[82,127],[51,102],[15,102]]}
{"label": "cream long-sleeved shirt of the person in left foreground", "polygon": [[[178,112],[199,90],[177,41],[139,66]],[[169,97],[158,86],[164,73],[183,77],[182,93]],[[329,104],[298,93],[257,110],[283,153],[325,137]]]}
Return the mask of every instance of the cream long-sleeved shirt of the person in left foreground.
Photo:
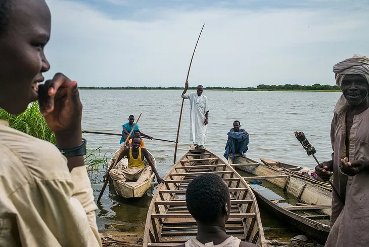
{"label": "cream long-sleeved shirt of the person in left foreground", "polygon": [[0,246],[101,246],[85,167],[0,121]]}

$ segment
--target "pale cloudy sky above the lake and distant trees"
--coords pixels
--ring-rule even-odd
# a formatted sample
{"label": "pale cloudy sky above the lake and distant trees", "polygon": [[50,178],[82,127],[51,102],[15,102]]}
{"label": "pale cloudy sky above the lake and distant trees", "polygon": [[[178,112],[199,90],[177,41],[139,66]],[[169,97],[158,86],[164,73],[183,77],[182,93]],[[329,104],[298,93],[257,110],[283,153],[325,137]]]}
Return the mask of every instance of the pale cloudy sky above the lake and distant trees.
{"label": "pale cloudy sky above the lake and distant trees", "polygon": [[52,77],[79,86],[334,85],[335,63],[369,56],[367,0],[47,0]]}

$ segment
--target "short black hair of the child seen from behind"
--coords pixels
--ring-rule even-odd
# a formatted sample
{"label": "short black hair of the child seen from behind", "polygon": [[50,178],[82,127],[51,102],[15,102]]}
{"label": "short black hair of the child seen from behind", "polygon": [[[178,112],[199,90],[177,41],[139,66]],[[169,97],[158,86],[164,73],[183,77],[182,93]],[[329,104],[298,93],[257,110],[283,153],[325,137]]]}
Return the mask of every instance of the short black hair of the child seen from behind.
{"label": "short black hair of the child seen from behind", "polygon": [[228,201],[228,187],[218,175],[205,173],[187,186],[187,209],[196,221],[203,224],[213,224],[225,215],[224,205]]}

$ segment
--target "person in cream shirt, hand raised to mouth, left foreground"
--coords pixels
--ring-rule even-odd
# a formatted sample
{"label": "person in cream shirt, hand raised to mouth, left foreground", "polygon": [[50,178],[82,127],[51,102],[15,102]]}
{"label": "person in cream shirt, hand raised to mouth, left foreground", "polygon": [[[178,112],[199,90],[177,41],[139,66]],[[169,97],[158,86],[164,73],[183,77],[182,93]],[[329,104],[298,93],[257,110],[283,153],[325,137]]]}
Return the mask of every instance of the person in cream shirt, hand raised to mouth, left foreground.
{"label": "person in cream shirt, hand raised to mouth, left foreground", "polygon": [[0,0],[0,107],[38,99],[60,149],[0,122],[0,246],[101,246],[77,83],[58,73],[38,87],[50,29],[43,0]]}

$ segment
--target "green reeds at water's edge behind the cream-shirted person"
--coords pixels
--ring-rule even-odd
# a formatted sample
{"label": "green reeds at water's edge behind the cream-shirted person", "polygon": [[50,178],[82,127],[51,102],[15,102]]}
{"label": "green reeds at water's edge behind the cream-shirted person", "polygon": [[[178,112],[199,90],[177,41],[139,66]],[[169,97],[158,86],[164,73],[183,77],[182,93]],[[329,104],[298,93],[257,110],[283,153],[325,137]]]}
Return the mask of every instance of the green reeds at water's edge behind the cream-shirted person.
{"label": "green reeds at water's edge behind the cream-shirted person", "polygon": [[[37,102],[29,104],[27,109],[18,115],[11,115],[0,108],[0,119],[7,120],[9,126],[13,129],[55,144],[55,135],[40,113]],[[100,148],[87,150],[87,154],[84,156],[84,163],[87,166],[90,178],[94,171],[107,170],[108,158],[106,154],[101,155]]]}

